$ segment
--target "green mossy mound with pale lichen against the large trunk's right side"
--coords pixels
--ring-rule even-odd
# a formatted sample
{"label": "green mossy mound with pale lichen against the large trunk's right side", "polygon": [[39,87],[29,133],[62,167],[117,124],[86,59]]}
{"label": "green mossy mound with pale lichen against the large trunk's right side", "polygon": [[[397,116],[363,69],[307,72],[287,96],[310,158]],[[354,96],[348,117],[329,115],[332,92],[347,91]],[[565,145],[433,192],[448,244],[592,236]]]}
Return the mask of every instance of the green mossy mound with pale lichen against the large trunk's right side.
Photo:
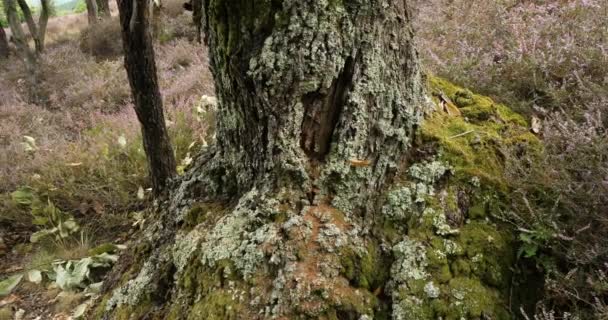
{"label": "green mossy mound with pale lichen against the large trunk's right side", "polygon": [[407,224],[393,247],[393,316],[511,319],[515,239],[495,219],[509,205],[505,155],[541,144],[506,106],[439,78],[429,88],[438,110],[420,127],[418,147],[434,162],[412,166],[388,197],[409,196],[408,214],[388,223]]}

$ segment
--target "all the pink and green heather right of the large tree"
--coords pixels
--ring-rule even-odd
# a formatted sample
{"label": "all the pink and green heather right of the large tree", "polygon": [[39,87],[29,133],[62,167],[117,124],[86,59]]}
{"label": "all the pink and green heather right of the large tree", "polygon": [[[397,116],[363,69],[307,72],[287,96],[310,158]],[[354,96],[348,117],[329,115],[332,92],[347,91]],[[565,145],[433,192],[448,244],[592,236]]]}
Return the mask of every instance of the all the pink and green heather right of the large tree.
{"label": "all the pink and green heather right of the large tree", "polygon": [[[608,5],[605,1],[417,1],[433,73],[534,123],[537,157],[506,152],[521,272],[541,270],[530,319],[608,317]],[[439,21],[439,23],[438,23]]]}

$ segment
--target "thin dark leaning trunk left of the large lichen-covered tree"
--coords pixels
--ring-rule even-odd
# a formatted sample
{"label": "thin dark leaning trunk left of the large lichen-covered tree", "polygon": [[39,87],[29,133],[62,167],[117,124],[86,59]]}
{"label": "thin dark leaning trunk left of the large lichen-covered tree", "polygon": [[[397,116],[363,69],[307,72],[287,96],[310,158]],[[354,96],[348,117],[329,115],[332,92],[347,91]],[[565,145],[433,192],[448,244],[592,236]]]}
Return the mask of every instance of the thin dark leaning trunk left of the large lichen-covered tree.
{"label": "thin dark leaning trunk left of the large lichen-covered tree", "polygon": [[119,0],[118,10],[125,51],[125,68],[142,126],[148,170],[156,195],[165,191],[176,174],[173,148],[165,127],[162,98],[150,30],[149,1]]}

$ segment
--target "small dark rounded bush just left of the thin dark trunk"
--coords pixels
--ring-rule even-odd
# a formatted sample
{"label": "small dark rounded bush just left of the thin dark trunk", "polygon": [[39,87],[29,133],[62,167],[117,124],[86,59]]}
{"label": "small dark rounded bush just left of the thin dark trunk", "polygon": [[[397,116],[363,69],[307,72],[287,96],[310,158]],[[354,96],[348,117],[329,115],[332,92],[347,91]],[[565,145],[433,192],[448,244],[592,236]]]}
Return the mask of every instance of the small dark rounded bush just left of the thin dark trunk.
{"label": "small dark rounded bush just left of the thin dark trunk", "polygon": [[122,55],[118,17],[98,21],[80,34],[80,49],[97,59],[115,59]]}

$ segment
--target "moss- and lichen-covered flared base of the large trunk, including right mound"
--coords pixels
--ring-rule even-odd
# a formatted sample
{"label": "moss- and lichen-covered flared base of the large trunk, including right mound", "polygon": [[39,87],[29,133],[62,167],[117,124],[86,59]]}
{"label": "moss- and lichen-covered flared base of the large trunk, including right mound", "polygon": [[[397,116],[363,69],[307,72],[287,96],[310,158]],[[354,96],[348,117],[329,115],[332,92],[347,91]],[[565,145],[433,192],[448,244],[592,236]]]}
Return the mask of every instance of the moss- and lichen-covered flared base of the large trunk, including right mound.
{"label": "moss- and lichen-covered flared base of the large trunk, including right mound", "polygon": [[237,204],[193,199],[163,216],[181,226],[169,244],[134,246],[150,257],[117,277],[97,316],[511,319],[515,239],[495,219],[509,203],[505,150],[540,143],[489,98],[437,78],[429,92],[437,110],[375,211],[303,205],[290,190],[253,189]]}

